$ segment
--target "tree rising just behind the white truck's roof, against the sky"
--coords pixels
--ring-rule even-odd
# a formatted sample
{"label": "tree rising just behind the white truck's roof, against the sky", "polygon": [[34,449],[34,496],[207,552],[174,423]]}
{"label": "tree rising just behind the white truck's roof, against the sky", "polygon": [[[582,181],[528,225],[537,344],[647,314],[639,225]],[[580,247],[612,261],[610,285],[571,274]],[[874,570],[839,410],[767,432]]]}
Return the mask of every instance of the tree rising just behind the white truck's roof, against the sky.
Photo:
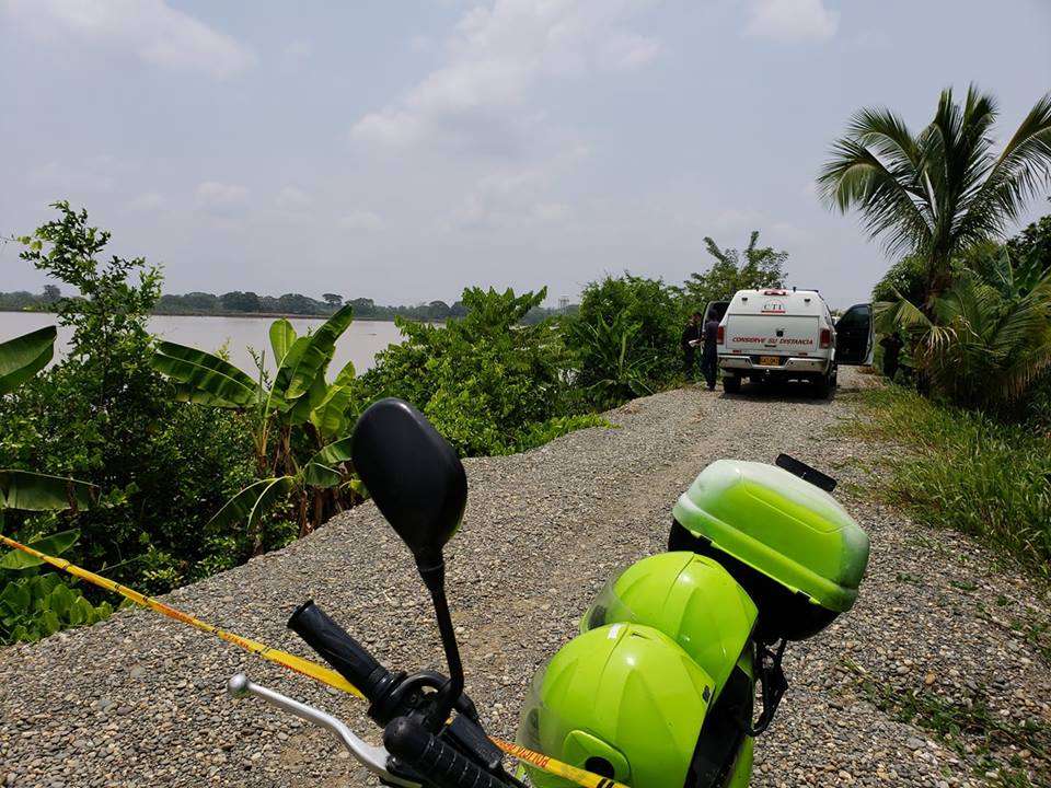
{"label": "tree rising just behind the white truck's roof, against the sky", "polygon": [[704,244],[715,263],[704,274],[691,274],[685,281],[683,291],[690,312],[703,309],[708,301],[725,301],[738,290],[782,286],[788,253],[759,246],[759,230],[752,231],[743,255],[734,248],[719,248],[707,236]]}

